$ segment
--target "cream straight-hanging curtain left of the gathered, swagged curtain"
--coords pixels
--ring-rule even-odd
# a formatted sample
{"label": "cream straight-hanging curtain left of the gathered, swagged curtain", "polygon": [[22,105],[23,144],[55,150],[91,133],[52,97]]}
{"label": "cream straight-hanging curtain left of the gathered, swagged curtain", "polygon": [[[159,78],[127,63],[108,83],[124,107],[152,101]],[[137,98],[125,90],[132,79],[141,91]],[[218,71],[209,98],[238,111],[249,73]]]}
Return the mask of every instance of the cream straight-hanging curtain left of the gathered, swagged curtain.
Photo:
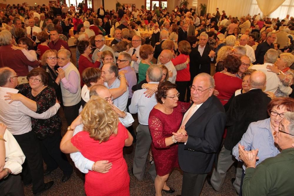
{"label": "cream straight-hanging curtain left of the gathered, swagged curtain", "polygon": [[220,14],[225,10],[227,16],[238,16],[240,18],[251,14],[249,13],[251,3],[252,0],[208,0],[207,13],[216,13],[216,8],[218,7]]}

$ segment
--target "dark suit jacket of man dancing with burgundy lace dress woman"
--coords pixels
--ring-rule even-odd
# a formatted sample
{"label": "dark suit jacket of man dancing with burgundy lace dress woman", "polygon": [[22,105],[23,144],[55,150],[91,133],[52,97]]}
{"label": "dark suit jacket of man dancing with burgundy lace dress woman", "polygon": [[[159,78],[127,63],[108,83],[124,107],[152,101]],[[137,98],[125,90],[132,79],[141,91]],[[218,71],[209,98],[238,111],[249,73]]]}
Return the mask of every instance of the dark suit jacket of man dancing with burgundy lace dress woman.
{"label": "dark suit jacket of man dancing with burgundy lace dress woman", "polygon": [[218,98],[209,97],[191,116],[185,129],[186,145],[179,143],[181,169],[193,174],[211,172],[225,128],[225,110]]}

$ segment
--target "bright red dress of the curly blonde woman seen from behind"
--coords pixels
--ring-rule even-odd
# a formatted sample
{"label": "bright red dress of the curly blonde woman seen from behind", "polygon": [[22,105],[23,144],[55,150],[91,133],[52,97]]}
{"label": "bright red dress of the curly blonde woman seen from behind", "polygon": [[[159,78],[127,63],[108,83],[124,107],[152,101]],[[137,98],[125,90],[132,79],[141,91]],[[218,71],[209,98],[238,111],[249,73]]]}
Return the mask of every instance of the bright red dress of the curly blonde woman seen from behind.
{"label": "bright red dress of the curly blonde woman seen from behind", "polygon": [[130,176],[126,160],[123,158],[123,147],[127,138],[128,130],[121,123],[118,123],[117,135],[111,135],[106,142],[95,141],[86,131],[81,131],[71,138],[71,143],[87,159],[109,160],[112,163],[112,168],[105,174],[89,170],[85,178],[87,196],[130,195]]}

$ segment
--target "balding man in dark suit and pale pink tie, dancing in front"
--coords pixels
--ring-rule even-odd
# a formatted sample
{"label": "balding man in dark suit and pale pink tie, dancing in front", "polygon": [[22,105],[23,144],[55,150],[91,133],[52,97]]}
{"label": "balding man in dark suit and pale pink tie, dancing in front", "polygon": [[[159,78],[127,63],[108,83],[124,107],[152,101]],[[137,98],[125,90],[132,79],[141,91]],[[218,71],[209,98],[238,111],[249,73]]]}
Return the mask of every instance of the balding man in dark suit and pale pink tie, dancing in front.
{"label": "balding man in dark suit and pale pink tie, dancing in front", "polygon": [[207,73],[195,76],[193,104],[183,117],[187,134],[173,133],[179,142],[178,159],[183,170],[183,196],[198,196],[211,172],[225,128],[225,109],[213,95],[214,80]]}

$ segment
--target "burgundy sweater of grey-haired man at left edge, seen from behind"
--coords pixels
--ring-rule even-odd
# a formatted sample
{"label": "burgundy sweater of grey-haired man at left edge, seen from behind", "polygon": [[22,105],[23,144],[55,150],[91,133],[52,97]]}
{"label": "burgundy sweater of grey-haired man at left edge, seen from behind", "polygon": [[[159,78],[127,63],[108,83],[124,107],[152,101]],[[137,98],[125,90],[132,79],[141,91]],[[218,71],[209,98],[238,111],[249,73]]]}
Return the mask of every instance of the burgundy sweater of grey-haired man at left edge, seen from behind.
{"label": "burgundy sweater of grey-haired man at left edge, seen from behind", "polygon": [[18,76],[26,76],[29,73],[28,66],[39,66],[39,61],[29,61],[21,50],[13,50],[11,46],[0,46],[0,67],[9,67]]}

